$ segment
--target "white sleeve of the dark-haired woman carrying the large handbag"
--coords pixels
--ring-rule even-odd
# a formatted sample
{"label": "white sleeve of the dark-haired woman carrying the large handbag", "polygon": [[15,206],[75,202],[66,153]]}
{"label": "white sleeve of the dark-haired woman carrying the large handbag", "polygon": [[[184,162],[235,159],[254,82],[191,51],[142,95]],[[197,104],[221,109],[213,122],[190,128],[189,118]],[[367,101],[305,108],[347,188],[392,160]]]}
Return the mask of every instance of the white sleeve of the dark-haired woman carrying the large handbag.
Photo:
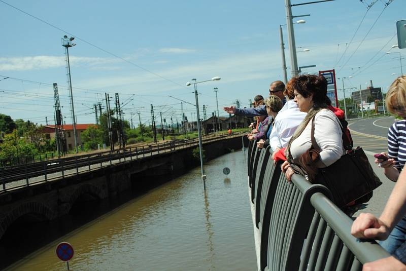
{"label": "white sleeve of the dark-haired woman carrying the large handbag", "polygon": [[314,138],[320,149],[320,160],[326,167],[343,155],[343,132],[339,121],[331,111],[323,110],[315,118]]}

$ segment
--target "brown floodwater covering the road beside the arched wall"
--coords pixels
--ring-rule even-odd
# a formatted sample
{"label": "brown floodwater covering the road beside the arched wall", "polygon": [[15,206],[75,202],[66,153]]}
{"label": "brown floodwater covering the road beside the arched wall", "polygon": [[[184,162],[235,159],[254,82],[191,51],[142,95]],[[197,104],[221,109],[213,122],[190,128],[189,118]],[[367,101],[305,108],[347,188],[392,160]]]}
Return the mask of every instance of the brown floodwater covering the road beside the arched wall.
{"label": "brown floodwater covering the road beside the arched wall", "polygon": [[[228,167],[228,179],[222,173]],[[75,249],[71,270],[255,270],[247,167],[242,151],[121,205],[31,253],[10,270],[66,270],[59,242]]]}

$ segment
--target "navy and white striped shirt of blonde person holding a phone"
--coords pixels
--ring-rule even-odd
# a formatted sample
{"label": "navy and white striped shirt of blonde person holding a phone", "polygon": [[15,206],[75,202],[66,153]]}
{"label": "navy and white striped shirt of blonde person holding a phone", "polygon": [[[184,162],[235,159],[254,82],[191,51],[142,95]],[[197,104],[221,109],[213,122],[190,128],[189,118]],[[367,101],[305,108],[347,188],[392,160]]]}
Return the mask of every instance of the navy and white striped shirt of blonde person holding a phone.
{"label": "navy and white striped shirt of blonde person holding a phone", "polygon": [[406,163],[406,120],[395,122],[389,128],[388,157],[395,160],[395,168],[401,171]]}

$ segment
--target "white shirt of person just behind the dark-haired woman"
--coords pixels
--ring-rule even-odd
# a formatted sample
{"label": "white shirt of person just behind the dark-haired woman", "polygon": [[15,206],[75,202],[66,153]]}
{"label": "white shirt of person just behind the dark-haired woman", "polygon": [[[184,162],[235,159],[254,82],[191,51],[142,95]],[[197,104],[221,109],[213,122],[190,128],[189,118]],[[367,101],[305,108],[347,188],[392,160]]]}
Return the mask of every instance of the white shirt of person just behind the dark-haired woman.
{"label": "white shirt of person just behind the dark-haired woman", "polygon": [[294,100],[286,102],[275,118],[274,128],[270,132],[269,145],[274,151],[272,158],[281,148],[286,147],[296,128],[306,116],[300,112]]}

